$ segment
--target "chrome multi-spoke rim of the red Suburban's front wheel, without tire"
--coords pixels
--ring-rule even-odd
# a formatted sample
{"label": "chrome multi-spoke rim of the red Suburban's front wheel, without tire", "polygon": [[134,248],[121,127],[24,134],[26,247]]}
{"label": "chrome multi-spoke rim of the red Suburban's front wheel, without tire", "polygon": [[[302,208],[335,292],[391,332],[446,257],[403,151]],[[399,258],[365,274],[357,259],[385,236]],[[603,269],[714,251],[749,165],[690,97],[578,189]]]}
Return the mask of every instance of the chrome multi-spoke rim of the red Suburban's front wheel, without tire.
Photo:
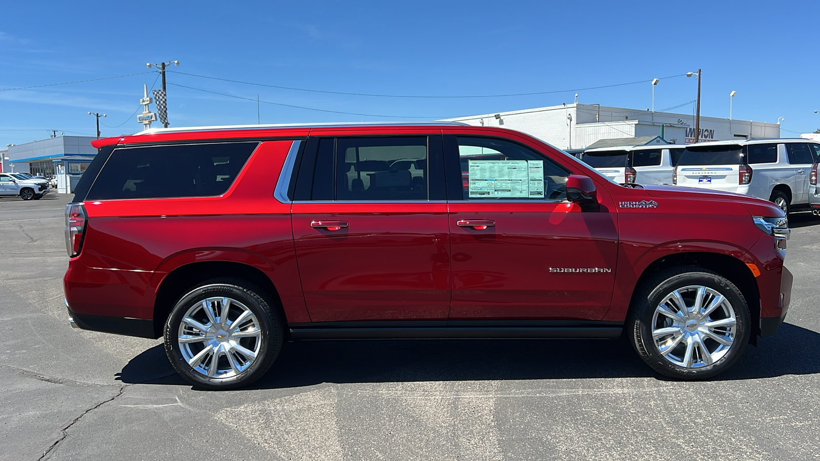
{"label": "chrome multi-spoke rim of the red Suburban's front wheel, without tire", "polygon": [[652,339],[664,358],[678,367],[707,367],[734,344],[737,318],[717,290],[690,285],[663,297],[652,317]]}

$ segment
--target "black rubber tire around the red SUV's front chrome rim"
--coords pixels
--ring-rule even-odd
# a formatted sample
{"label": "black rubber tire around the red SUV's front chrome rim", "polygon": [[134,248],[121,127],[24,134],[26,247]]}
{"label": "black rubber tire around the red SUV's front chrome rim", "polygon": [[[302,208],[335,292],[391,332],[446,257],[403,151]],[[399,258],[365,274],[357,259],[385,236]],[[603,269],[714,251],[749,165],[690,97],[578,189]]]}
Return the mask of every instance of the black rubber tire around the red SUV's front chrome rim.
{"label": "black rubber tire around the red SUV's front chrome rim", "polygon": [[[718,304],[718,308],[715,309],[713,314],[708,316],[711,317],[711,315],[714,315],[716,318],[709,318],[709,322],[722,320],[723,318],[728,319],[726,313],[731,310],[731,313],[733,313],[736,319],[736,325],[731,334],[727,333],[727,336],[731,335],[732,338],[731,345],[729,345],[727,349],[720,349],[726,346],[721,346],[720,343],[712,338],[706,337],[704,340],[703,335],[699,336],[701,338],[699,344],[697,344],[696,340],[693,340],[692,342],[696,343],[694,346],[695,351],[690,352],[690,357],[697,356],[701,358],[701,360],[700,363],[694,363],[693,361],[693,363],[691,363],[692,367],[686,367],[673,363],[673,360],[681,358],[681,352],[686,351],[687,346],[684,340],[689,341],[687,335],[695,335],[698,331],[702,331],[702,328],[705,328],[705,326],[701,326],[702,324],[692,324],[692,322],[696,323],[699,322],[699,320],[688,319],[689,314],[686,315],[686,318],[681,317],[681,320],[683,320],[683,323],[687,326],[680,330],[681,336],[683,336],[683,339],[679,340],[680,342],[676,342],[675,340],[677,338],[672,334],[660,337],[662,343],[667,343],[667,347],[674,344],[674,346],[665,349],[667,355],[661,353],[660,346],[655,343],[652,333],[656,326],[660,326],[658,322],[667,322],[663,324],[663,326],[674,322],[661,314],[655,317],[656,309],[663,300],[667,298],[667,295],[672,294],[675,290],[690,286],[703,286],[706,290],[717,292],[717,294],[722,295],[728,301],[729,305],[724,303]],[[695,291],[695,293],[693,293],[693,291]],[[686,294],[687,297],[691,295],[696,296],[696,290],[688,289],[682,292]],[[706,296],[713,296],[713,294],[706,294]],[[716,298],[709,298],[709,300],[711,299]],[[695,304],[694,299],[685,297],[684,303],[687,304],[687,308],[690,308],[688,305],[689,302],[693,305]],[[721,313],[723,313],[724,317],[721,317]],[[695,314],[692,315],[695,317]],[[672,328],[674,327],[675,326],[672,326]],[[655,331],[659,331],[659,328]],[[729,329],[723,331],[729,331]],[[636,291],[631,308],[631,315],[627,319],[625,326],[625,333],[630,336],[632,346],[640,358],[664,376],[681,380],[701,380],[725,372],[735,363],[737,358],[740,358],[740,355],[743,354],[745,346],[749,342],[750,332],[751,317],[749,316],[749,307],[743,294],[740,293],[740,290],[725,277],[697,266],[671,267],[662,272],[658,272],[658,274],[652,276],[641,285]],[[664,340],[664,338],[667,339]],[[725,340],[726,337],[723,337],[723,339]],[[706,354],[700,352],[702,345],[706,347]],[[709,347],[714,347],[715,349],[709,351]],[[713,360],[713,354],[719,355],[719,357]],[[708,356],[708,360],[703,358],[704,356]],[[683,357],[684,358],[677,361],[679,363],[686,363],[686,355],[684,354]],[[710,360],[713,360],[713,362],[709,363]]]}

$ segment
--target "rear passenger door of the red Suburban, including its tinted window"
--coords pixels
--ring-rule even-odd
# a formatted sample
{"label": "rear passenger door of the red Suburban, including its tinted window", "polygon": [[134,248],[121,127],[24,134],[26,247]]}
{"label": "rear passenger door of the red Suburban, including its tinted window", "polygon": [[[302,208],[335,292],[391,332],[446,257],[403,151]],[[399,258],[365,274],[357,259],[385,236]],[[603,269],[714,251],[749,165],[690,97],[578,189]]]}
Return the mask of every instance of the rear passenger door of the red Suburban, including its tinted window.
{"label": "rear passenger door of the red Suburban, including its tinted window", "polygon": [[447,318],[440,135],[308,139],[292,216],[313,322]]}

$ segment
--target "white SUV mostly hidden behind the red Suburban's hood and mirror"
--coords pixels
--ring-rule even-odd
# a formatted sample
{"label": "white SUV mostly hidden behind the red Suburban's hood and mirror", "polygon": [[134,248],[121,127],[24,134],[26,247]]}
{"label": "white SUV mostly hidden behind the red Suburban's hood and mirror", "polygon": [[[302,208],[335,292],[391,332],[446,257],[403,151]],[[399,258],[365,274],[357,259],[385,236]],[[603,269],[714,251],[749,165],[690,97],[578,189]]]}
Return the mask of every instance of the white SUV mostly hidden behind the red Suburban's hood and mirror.
{"label": "white SUV mostly hidden behind the red Suburban's hood and mirror", "polygon": [[683,150],[675,144],[591,148],[581,161],[617,183],[672,184]]}

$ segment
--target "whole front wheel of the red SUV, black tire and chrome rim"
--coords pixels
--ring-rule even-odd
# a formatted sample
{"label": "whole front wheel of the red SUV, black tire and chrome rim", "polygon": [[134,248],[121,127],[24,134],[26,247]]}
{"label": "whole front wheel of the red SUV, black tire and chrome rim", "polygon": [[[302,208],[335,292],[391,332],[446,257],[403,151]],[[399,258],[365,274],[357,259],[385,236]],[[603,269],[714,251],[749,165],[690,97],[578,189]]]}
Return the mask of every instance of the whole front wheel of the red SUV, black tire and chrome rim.
{"label": "whole front wheel of the red SUV, black tire and chrome rim", "polygon": [[726,371],[749,342],[740,290],[702,267],[673,267],[643,285],[630,322],[635,351],[650,367],[684,380]]}

